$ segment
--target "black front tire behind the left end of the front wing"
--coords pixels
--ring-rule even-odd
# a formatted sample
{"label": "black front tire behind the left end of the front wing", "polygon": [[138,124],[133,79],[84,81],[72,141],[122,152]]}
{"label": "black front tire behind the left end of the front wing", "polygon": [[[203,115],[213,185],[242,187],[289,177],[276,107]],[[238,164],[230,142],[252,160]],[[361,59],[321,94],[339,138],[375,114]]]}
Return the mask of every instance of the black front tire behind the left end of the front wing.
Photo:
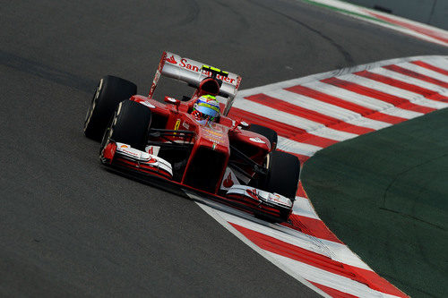
{"label": "black front tire behind the left end of the front wing", "polygon": [[116,107],[116,113],[104,133],[101,148],[108,140],[114,140],[134,149],[144,150],[150,125],[150,108],[132,100],[125,100]]}

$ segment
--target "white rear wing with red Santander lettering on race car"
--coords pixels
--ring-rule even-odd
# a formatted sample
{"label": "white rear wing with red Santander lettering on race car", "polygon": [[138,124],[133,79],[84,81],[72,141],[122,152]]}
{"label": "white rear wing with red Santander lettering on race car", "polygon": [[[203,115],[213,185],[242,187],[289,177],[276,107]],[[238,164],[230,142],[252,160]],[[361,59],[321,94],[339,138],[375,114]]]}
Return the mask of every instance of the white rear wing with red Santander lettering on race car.
{"label": "white rear wing with red Santander lettering on race car", "polygon": [[[204,67],[204,69],[202,69],[203,65],[204,64],[200,62],[189,58],[183,58],[180,55],[170,52],[163,52],[159,67],[154,76],[154,80],[152,81],[149,97],[152,98],[154,90],[159,82],[160,75],[178,81],[185,81],[188,85],[198,88],[203,79],[212,76],[212,72],[210,70],[214,69],[212,67]],[[223,74],[216,75],[216,78],[222,81],[218,95],[228,98],[223,111],[223,115],[228,115],[228,111],[230,110],[233,100],[237,95],[237,90],[239,88],[239,84],[241,83],[241,77],[232,72],[222,73]]]}

